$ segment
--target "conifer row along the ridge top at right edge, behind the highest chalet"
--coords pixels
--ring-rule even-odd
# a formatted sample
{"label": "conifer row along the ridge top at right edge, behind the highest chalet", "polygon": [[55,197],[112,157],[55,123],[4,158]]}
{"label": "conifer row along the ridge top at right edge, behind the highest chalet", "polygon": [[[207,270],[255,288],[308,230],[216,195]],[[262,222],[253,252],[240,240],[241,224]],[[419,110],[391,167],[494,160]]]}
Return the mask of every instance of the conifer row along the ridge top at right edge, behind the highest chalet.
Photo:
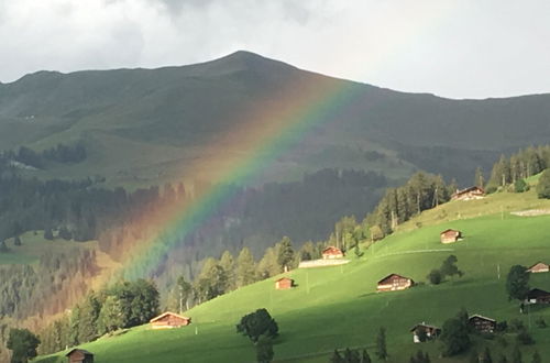
{"label": "conifer row along the ridge top at right edge, behind the highest chalet", "polygon": [[486,191],[493,193],[499,187],[515,184],[548,167],[550,167],[550,145],[527,147],[510,157],[503,155],[493,166]]}

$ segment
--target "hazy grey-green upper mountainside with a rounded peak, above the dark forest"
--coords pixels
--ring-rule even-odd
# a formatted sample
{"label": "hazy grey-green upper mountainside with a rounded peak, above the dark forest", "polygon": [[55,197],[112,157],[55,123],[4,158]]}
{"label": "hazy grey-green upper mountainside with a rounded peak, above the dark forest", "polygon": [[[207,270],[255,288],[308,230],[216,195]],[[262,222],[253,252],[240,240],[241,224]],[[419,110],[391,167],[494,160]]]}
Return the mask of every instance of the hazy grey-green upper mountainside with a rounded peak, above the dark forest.
{"label": "hazy grey-green upper mountainside with a rounded peak, above the dark forest", "polygon": [[318,99],[339,105],[317,116],[322,120],[297,141],[299,153],[275,155],[260,182],[353,167],[394,177],[422,168],[469,184],[476,166],[490,167],[501,153],[550,140],[549,95],[451,100],[237,52],[180,67],[38,72],[0,84],[0,148],[85,144],[82,163],[33,173],[46,178],[102,175],[111,186],[161,184],[182,174],[190,184],[212,180],[220,158],[230,163],[255,152],[246,143],[220,146],[220,135],[240,140],[280,130],[277,112],[308,110],[310,103],[297,100],[324,89],[345,92]]}

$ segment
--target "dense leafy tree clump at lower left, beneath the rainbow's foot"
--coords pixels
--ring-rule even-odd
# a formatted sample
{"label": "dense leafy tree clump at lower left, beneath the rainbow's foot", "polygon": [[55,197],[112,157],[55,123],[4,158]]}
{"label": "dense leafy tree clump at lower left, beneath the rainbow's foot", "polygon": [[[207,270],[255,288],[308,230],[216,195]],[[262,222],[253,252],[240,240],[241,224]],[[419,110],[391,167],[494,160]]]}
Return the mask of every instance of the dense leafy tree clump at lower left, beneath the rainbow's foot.
{"label": "dense leafy tree clump at lower left, beneath the rainbow's foot", "polygon": [[40,352],[57,352],[119,329],[143,324],[158,315],[158,300],[155,284],[145,279],[122,280],[98,293],[91,292],[69,315],[41,332]]}

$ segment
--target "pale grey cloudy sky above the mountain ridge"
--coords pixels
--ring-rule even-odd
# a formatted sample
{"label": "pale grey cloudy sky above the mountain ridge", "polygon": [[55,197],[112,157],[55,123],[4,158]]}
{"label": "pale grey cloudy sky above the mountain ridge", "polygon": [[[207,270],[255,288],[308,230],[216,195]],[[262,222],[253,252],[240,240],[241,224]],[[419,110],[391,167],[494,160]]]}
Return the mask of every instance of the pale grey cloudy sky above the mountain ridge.
{"label": "pale grey cloudy sky above the mountain ridge", "polygon": [[548,0],[0,0],[0,81],[248,50],[451,98],[550,92]]}

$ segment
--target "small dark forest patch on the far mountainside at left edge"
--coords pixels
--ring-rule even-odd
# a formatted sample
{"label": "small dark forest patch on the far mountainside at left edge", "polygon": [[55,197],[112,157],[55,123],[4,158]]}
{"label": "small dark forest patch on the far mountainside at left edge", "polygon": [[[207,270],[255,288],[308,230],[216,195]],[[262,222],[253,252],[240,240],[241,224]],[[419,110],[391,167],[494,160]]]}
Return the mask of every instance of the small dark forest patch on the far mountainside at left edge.
{"label": "small dark forest patch on the far mountainside at left edge", "polygon": [[21,146],[16,152],[2,152],[4,158],[19,162],[36,168],[43,168],[45,161],[54,161],[58,163],[80,163],[87,157],[86,147],[81,142],[74,145],[57,144],[54,147],[46,148],[42,152],[35,152],[26,146]]}

